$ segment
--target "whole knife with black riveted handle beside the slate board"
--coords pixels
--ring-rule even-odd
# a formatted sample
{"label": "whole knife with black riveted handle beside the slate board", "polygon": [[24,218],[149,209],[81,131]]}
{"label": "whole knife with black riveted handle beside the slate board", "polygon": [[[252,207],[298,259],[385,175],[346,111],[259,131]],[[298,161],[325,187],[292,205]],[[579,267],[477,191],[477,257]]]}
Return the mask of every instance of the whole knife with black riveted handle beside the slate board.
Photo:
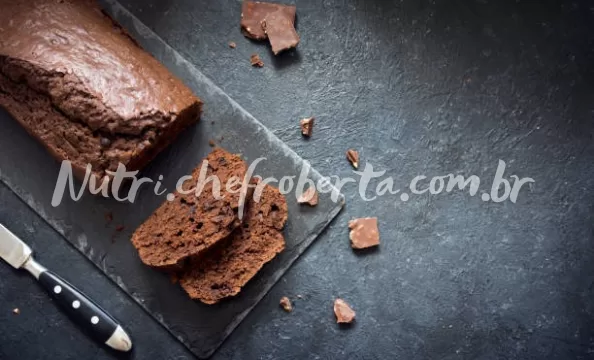
{"label": "whole knife with black riveted handle beside the slate board", "polygon": [[95,340],[119,351],[132,348],[130,337],[113,317],[66,280],[37,263],[31,248],[2,224],[0,257],[14,268],[25,269],[35,276],[70,318]]}

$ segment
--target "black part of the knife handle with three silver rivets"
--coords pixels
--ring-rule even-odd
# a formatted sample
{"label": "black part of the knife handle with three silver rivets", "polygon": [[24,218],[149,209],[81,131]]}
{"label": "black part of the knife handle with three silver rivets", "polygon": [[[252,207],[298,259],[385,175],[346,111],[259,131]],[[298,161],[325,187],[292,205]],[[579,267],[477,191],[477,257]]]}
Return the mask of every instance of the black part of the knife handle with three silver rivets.
{"label": "black part of the knife handle with three silver rivets", "polygon": [[118,323],[93,300],[51,271],[39,275],[39,282],[64,309],[70,318],[95,340],[105,343],[114,334]]}

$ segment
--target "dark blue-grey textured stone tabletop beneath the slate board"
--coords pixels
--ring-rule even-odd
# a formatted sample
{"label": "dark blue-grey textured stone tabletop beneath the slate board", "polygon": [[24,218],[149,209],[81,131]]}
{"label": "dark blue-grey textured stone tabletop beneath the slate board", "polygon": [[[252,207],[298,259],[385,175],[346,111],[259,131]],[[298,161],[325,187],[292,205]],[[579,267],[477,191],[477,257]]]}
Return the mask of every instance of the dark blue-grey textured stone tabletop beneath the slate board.
{"label": "dark blue-grey textured stone tabletop beneath the slate board", "polygon": [[[124,4],[322,173],[352,175],[344,152],[353,147],[396,188],[417,175],[483,180],[476,196],[453,191],[407,202],[398,195],[366,202],[345,186],[342,215],[215,358],[594,356],[594,9],[587,1],[298,1],[302,42],[278,58],[241,36],[239,1]],[[253,52],[263,69],[249,66]],[[305,116],[317,117],[309,141],[299,136]],[[481,200],[499,159],[507,177],[536,181],[516,203]],[[34,231],[55,236],[4,198],[0,221],[20,223],[15,232],[26,240]],[[358,216],[379,218],[379,251],[349,248],[346,222]],[[72,263],[61,265],[76,269],[72,281],[90,277],[85,290],[103,294],[106,307],[130,321],[136,358],[188,356],[55,237],[58,247],[43,260],[69,254]],[[32,280],[14,280],[4,265],[0,271],[0,355],[109,356],[61,326],[63,316],[35,295],[41,290]],[[304,299],[284,313],[280,297],[297,294]],[[337,296],[357,311],[350,329],[334,324]],[[16,306],[23,315],[12,314]],[[26,318],[27,308],[45,316]]]}

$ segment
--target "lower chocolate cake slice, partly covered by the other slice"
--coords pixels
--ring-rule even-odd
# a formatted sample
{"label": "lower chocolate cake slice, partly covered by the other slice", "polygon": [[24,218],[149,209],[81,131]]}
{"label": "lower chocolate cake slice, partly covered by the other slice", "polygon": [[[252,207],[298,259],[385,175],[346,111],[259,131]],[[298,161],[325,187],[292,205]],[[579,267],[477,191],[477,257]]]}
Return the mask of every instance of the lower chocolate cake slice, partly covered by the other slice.
{"label": "lower chocolate cake slice, partly covered by the other slice", "polygon": [[179,283],[192,299],[205,304],[237,295],[284,249],[287,216],[284,196],[266,185],[260,201],[249,204],[243,225],[212,251],[192,258],[179,274]]}

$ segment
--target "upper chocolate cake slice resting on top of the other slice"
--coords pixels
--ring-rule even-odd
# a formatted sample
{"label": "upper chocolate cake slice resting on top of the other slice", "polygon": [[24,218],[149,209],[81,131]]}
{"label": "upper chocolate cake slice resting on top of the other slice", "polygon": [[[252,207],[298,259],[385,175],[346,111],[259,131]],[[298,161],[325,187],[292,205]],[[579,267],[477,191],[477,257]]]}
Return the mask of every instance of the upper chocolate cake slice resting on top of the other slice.
{"label": "upper chocolate cake slice resting on top of the other slice", "polygon": [[[226,190],[227,182],[236,177],[241,182],[246,164],[237,155],[215,148],[208,161],[206,177],[216,176],[220,182],[221,199],[213,196],[213,182],[205,182],[198,196],[175,192],[173,201],[165,201],[132,236],[132,243],[142,261],[164,270],[179,268],[190,256],[197,256],[228,237],[241,221],[239,219],[240,191]],[[184,182],[183,191],[196,188],[202,163],[192,173],[192,180]],[[247,198],[247,196],[246,196]]]}

